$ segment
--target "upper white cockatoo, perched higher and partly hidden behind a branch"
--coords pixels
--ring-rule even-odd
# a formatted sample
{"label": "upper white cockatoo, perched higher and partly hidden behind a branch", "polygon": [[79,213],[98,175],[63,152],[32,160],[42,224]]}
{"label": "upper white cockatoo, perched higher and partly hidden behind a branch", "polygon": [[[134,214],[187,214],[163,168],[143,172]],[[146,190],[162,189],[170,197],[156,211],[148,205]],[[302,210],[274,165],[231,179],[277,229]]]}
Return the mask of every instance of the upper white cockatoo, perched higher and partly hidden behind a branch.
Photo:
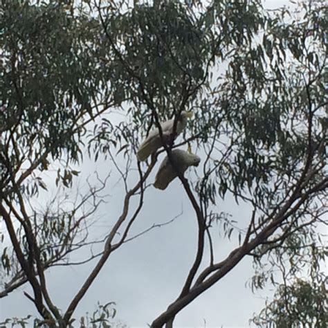
{"label": "upper white cockatoo, perched higher and partly hidden behind a branch", "polygon": [[[181,134],[181,132],[185,128],[185,125],[187,124],[187,118],[190,117],[192,117],[191,111],[181,111],[180,117],[176,122],[176,133],[174,135],[174,138],[176,138],[178,134]],[[173,127],[174,127],[174,118],[172,118],[172,120],[167,120],[161,123],[164,143],[168,143],[170,141],[170,137],[173,134]],[[159,134],[158,128],[156,127],[156,129],[152,129],[152,131],[149,132],[147,138],[145,138],[143,143],[140,145],[137,152],[138,161],[140,162],[145,161],[148,158],[148,156],[156,152],[156,150],[160,148],[162,145],[163,143],[161,140],[161,136]]]}

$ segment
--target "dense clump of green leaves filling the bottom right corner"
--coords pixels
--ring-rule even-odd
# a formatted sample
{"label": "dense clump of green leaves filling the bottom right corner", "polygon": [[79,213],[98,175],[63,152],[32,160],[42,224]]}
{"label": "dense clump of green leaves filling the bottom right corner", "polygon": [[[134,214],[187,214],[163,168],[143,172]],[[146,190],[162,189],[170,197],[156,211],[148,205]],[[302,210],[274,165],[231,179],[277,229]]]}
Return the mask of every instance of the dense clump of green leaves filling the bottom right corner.
{"label": "dense clump of green leaves filling the bottom right corner", "polygon": [[284,283],[277,286],[273,301],[253,318],[257,327],[327,326],[327,276],[320,269],[325,250],[314,245],[311,249],[308,277],[298,278],[283,270]]}

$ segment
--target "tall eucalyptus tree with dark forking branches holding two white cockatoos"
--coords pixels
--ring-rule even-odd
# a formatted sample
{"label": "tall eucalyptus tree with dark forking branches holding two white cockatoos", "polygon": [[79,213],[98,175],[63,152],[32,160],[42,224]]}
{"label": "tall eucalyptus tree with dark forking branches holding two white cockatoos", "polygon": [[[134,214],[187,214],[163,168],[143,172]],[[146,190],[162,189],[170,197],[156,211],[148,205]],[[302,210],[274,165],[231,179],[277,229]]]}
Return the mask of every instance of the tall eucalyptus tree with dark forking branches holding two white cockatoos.
{"label": "tall eucalyptus tree with dark forking branches holding two white cockatoos", "polygon": [[[201,169],[188,180],[175,169],[197,221],[197,251],[179,296],[149,318],[152,327],[172,327],[181,309],[246,256],[254,258],[255,288],[274,282],[279,263],[290,263],[286,280],[311,269],[327,211],[323,1],[301,3],[295,12],[231,0],[15,0],[1,1],[0,10],[0,215],[10,241],[1,256],[2,297],[30,284],[33,295],[25,295],[44,325],[71,325],[104,264],[129,240],[158,156],[165,152],[174,167],[172,149],[187,144]],[[183,141],[173,135],[138,162],[141,140],[152,128],[163,140],[160,123],[172,118],[176,128],[182,111],[194,113]],[[117,113],[124,119],[118,122]],[[59,201],[56,210],[40,211],[33,200],[53,170],[58,190],[72,188],[88,155],[107,158],[126,193],[102,252],[88,259],[97,259],[93,269],[60,311],[44,272],[92,243],[87,219],[107,181],[73,206]],[[228,194],[251,208],[242,226],[218,206]],[[213,242],[216,224],[239,242],[224,258]]]}

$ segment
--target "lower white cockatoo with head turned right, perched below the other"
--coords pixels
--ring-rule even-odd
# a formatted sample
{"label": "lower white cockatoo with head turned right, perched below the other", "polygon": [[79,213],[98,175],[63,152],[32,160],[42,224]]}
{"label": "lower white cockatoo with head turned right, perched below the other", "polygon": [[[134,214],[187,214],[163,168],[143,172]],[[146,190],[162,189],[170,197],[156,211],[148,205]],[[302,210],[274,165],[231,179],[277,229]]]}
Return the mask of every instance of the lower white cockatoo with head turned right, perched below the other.
{"label": "lower white cockatoo with head turned right, perched below the other", "polygon": [[174,149],[171,154],[174,167],[166,156],[156,174],[154,187],[157,189],[165,190],[167,185],[178,176],[176,170],[179,170],[179,172],[183,174],[188,167],[198,166],[201,161],[199,156],[191,154],[190,152],[185,152],[181,149]]}

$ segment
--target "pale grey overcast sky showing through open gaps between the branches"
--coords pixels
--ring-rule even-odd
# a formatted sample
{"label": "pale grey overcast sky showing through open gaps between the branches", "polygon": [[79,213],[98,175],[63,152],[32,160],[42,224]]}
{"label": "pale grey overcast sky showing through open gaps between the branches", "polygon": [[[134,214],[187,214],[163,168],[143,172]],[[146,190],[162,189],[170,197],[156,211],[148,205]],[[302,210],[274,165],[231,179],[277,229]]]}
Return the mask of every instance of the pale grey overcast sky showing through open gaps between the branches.
{"label": "pale grey overcast sky showing through open gaps between the branches", "polygon": [[[288,1],[265,1],[266,8],[276,8]],[[86,161],[83,164],[84,177],[98,170],[106,176],[110,165],[105,161],[96,164]],[[194,175],[190,173],[190,179]],[[154,175],[150,178],[152,181]],[[104,235],[117,219],[122,210],[122,185],[116,183],[118,175],[113,172],[108,203],[100,208],[100,221],[93,227],[94,236]],[[133,180],[133,179],[132,179]],[[83,177],[82,177],[83,181]],[[249,210],[243,205],[237,206],[233,199],[219,203],[221,210],[230,212],[241,226],[249,220]],[[133,226],[131,235],[152,224],[168,221],[178,215],[172,224],[156,228],[146,235],[135,239],[117,250],[92,284],[74,317],[79,318],[86,311],[92,312],[99,301],[101,304],[116,302],[118,318],[129,327],[146,327],[156,316],[167,308],[181,291],[181,286],[194,260],[197,245],[197,220],[190,202],[185,197],[181,183],[176,179],[165,190],[149,188],[145,195],[142,212]],[[237,241],[219,236],[215,249],[217,259],[225,257]],[[86,254],[78,254],[74,259],[82,259]],[[46,274],[53,302],[63,310],[73,295],[89,275],[95,262],[84,266],[53,268]],[[245,258],[226,277],[211,289],[199,296],[176,316],[174,327],[248,327],[248,319],[253,313],[264,307],[264,298],[254,295],[246,282],[253,275],[250,258]],[[23,291],[26,285],[0,299],[0,321],[13,316],[23,317],[35,314],[33,304],[27,300]],[[265,291],[262,295],[270,295]]]}

